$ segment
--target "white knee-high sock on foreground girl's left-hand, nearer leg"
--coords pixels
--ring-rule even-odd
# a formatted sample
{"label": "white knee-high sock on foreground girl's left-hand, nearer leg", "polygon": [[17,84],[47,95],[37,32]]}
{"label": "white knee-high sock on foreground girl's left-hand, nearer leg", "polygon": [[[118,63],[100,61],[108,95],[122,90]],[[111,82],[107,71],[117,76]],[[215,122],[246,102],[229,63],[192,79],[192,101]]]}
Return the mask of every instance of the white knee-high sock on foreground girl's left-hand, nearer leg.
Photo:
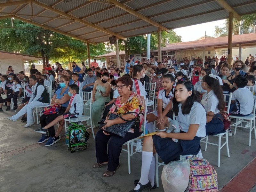
{"label": "white knee-high sock on foreground girl's left-hand, nearer leg", "polygon": [[[141,164],[141,175],[140,175],[140,183],[142,185],[148,184],[148,173],[150,170],[150,165],[153,158],[153,152],[142,151],[142,164]],[[134,189],[138,190],[140,185],[138,184]]]}

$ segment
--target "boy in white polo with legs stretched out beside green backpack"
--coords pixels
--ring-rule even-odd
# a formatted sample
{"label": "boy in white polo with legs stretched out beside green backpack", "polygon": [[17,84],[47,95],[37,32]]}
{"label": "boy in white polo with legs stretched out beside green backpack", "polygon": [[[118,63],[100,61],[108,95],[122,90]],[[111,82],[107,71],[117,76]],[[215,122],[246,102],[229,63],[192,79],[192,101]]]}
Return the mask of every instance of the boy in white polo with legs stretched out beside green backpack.
{"label": "boy in white polo with legs stretched out beside green backpack", "polygon": [[[57,137],[60,135],[60,132],[63,129],[64,119],[68,118],[68,115],[71,113],[78,113],[79,117],[81,117],[83,113],[84,101],[79,95],[78,86],[75,84],[69,85],[68,95],[71,96],[71,98],[65,113],[63,115],[58,116],[56,119],[54,119],[51,123],[47,124],[45,127],[35,130],[35,132],[47,134],[48,128],[60,122],[60,126],[55,134],[55,137],[52,138],[52,142],[51,142],[52,145],[58,142]],[[77,116],[72,115],[70,118],[71,119],[77,118]],[[50,145],[46,145],[46,146],[50,146]]]}

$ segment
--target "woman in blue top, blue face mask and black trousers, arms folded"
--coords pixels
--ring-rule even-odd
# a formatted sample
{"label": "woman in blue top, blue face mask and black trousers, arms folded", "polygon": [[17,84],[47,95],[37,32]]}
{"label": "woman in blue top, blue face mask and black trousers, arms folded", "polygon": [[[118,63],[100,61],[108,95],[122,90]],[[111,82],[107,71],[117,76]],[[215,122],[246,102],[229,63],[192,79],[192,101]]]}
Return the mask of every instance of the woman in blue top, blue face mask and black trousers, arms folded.
{"label": "woman in blue top, blue face mask and black trousers, arms folded", "polygon": [[[68,95],[68,85],[69,85],[69,78],[68,76],[61,76],[60,77],[60,89],[56,91],[54,96],[52,97],[51,104],[58,104],[61,105],[61,108],[58,113],[51,114],[51,115],[42,115],[40,117],[40,124],[41,127],[45,127],[47,124],[51,123],[54,119],[58,116],[63,115],[66,108],[68,107],[68,103],[70,100],[70,96]],[[59,122],[59,126],[63,126],[63,122]],[[44,143],[47,141],[44,146],[51,146],[54,143],[57,143],[60,140],[59,135],[55,135],[54,126],[50,127],[47,134],[42,134],[42,137],[37,141],[37,143]],[[56,140],[57,139],[57,140]]]}

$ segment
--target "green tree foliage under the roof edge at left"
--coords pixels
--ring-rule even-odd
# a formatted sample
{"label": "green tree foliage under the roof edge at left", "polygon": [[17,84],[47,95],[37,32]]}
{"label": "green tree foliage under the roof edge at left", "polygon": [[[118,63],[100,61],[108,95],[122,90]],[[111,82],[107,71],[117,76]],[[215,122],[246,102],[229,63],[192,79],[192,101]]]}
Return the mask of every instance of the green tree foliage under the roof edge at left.
{"label": "green tree foliage under the roof edge at left", "polygon": [[[41,56],[44,65],[49,60],[68,63],[88,59],[87,46],[80,40],[20,20],[0,20],[0,26],[0,49],[3,51]],[[90,45],[91,57],[104,53],[104,44]]]}

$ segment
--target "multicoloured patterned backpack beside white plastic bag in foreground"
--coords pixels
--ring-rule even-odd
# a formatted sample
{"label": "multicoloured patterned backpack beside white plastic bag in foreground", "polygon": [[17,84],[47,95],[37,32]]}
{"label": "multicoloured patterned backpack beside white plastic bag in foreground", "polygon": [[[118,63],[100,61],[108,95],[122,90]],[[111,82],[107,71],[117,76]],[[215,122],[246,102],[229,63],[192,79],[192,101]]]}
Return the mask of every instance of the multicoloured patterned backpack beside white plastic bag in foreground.
{"label": "multicoloured patterned backpack beside white plastic bag in foreground", "polygon": [[217,173],[205,159],[187,157],[190,174],[187,192],[218,192]]}

